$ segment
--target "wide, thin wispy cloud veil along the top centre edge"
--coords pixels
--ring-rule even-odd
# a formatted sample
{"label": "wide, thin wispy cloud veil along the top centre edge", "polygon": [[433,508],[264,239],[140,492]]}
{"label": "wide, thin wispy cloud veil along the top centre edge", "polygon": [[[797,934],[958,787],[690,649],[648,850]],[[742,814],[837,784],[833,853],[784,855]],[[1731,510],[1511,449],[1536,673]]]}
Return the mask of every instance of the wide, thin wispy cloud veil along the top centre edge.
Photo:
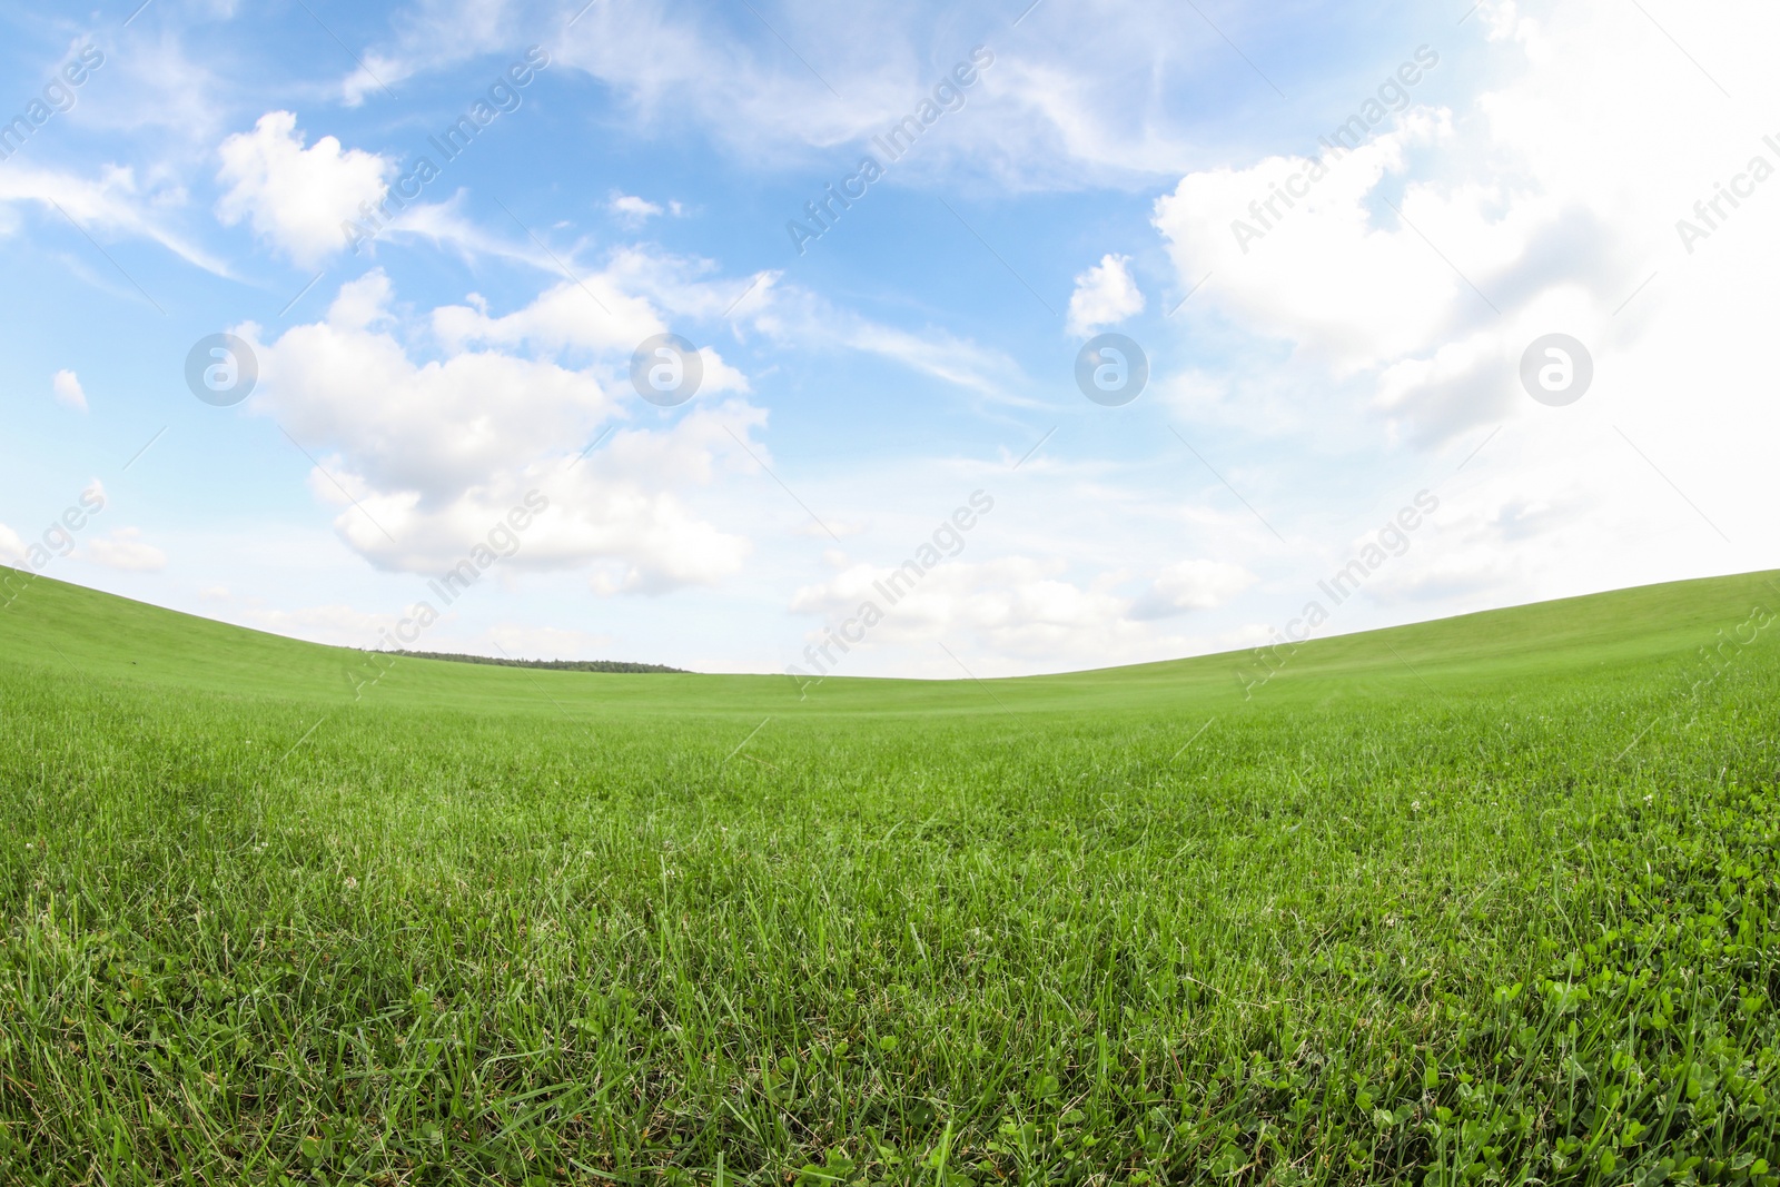
{"label": "wide, thin wispy cloud veil along the top centre edge", "polygon": [[[365,68],[344,82],[345,101],[470,57],[516,55],[532,36],[527,28],[554,21],[564,27],[550,39],[552,71],[596,78],[641,135],[692,125],[723,151],[776,167],[874,151],[872,135],[931,100],[979,48],[993,64],[963,91],[963,109],[947,116],[943,135],[924,139],[894,169],[904,180],[965,171],[1018,190],[1148,185],[1178,174],[1212,139],[1193,126],[1212,125],[1214,116],[1200,112],[1223,116],[1207,91],[1228,85],[1228,48],[1173,20],[1166,0],[1102,5],[1089,27],[1036,11],[1018,30],[1018,52],[995,36],[974,46],[943,5],[792,4],[783,18],[796,23],[799,53],[821,77],[796,61],[787,69],[783,44],[746,9],[714,18],[653,4],[596,4],[582,12],[575,4],[546,18],[520,7],[522,0],[417,0],[392,21],[393,37],[360,52]],[[577,12],[566,25],[564,14]],[[1257,34],[1225,28],[1239,41]]]}

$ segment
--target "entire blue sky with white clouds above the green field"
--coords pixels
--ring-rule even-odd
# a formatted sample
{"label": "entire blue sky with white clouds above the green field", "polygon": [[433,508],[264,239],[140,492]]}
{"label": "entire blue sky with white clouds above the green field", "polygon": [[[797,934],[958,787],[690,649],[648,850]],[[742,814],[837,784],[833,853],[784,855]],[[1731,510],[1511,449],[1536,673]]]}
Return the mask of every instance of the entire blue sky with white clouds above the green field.
{"label": "entire blue sky with white clouds above the green field", "polygon": [[[1771,12],[1024,7],[9,11],[0,559],[352,646],[917,676],[1780,564]],[[258,367],[221,408],[219,333]],[[1150,361],[1120,408],[1104,333]],[[1593,361],[1561,408],[1547,335]]]}

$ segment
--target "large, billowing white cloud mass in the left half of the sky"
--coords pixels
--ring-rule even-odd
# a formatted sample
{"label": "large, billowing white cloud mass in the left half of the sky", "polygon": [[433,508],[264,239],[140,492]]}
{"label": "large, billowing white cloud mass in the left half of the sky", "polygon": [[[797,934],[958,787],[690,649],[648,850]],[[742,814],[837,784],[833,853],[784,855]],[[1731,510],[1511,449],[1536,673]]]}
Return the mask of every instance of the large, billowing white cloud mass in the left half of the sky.
{"label": "large, billowing white cloud mass in the left half of the sky", "polygon": [[[689,411],[666,429],[623,427],[637,406],[630,349],[664,322],[611,278],[589,285],[609,288],[618,329],[568,285],[504,317],[481,304],[434,310],[425,327],[438,349],[417,359],[417,327],[395,317],[390,281],[374,271],[344,285],[324,320],[256,343],[255,408],[329,450],[312,491],[340,507],[338,532],[379,568],[445,571],[538,491],[550,509],[506,562],[514,571],[591,566],[596,593],[717,582],[749,543],[687,493],[749,468],[739,440],[765,415],[716,399],[746,379],[712,351]],[[596,464],[578,463],[598,436]]]}

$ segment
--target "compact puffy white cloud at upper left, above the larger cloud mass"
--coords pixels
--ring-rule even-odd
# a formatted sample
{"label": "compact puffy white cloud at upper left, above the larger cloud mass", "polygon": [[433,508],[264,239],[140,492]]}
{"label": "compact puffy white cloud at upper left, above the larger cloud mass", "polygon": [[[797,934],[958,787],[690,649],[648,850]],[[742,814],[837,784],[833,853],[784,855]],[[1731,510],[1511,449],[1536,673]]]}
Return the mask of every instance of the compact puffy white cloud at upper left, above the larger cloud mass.
{"label": "compact puffy white cloud at upper left, above the larger cloud mass", "polygon": [[217,180],[228,185],[217,217],[247,221],[253,230],[303,267],[315,267],[347,246],[340,230],[361,219],[360,205],[376,206],[395,162],[361,149],[344,149],[324,135],[310,148],[292,112],[267,112],[253,132],[239,132],[221,146]]}

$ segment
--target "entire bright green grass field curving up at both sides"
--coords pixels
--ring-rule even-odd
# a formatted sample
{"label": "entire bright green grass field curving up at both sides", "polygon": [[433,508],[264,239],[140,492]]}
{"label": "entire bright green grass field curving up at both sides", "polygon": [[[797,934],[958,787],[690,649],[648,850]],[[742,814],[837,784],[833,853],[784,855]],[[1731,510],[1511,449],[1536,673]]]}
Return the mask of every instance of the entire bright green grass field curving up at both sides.
{"label": "entire bright green grass field curving up at both sides", "polygon": [[1755,607],[1351,635],[1244,698],[384,671],[36,580],[0,1182],[1780,1183]]}

